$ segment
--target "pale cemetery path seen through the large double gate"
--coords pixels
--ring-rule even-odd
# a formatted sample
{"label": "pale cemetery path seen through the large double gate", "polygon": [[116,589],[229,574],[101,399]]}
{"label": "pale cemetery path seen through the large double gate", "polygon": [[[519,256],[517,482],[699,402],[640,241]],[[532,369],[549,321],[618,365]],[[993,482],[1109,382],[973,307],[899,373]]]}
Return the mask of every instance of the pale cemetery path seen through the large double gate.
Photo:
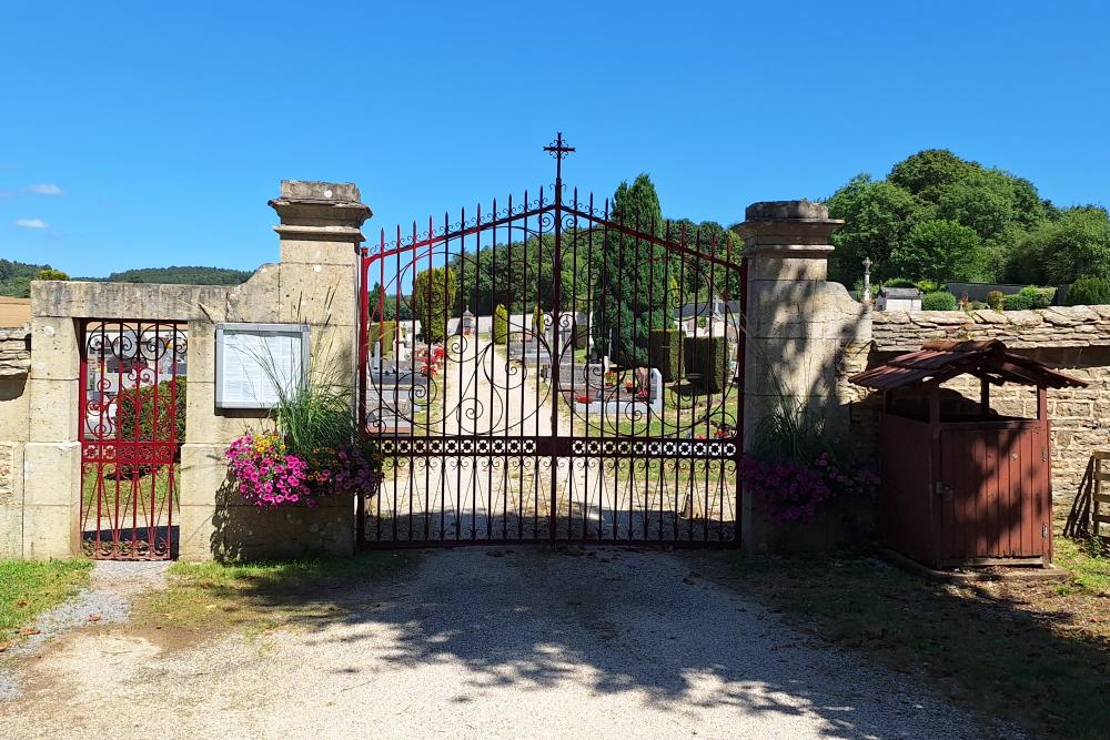
{"label": "pale cemetery path seen through the large double gate", "polygon": [[[438,376],[442,403],[433,402],[428,413],[430,436],[483,442],[552,436],[554,401],[536,364],[511,361],[505,347],[483,336],[452,337],[447,357]],[[573,423],[568,410],[561,408],[559,433],[568,436]],[[699,479],[693,468],[672,478],[648,470],[643,459],[566,457],[555,463],[553,472],[545,456],[452,454],[450,448],[445,453],[438,458],[400,459],[395,470],[386,472],[381,495],[369,503],[371,539],[379,533],[392,541],[410,536],[545,539],[552,526],[553,486],[561,537],[632,539],[678,533],[679,514],[688,514],[692,500],[709,503],[699,506],[708,509],[710,520],[735,518],[735,491],[713,489],[710,475]],[[707,493],[692,494],[690,486]],[[695,525],[682,521],[690,538],[708,536],[708,528]]]}

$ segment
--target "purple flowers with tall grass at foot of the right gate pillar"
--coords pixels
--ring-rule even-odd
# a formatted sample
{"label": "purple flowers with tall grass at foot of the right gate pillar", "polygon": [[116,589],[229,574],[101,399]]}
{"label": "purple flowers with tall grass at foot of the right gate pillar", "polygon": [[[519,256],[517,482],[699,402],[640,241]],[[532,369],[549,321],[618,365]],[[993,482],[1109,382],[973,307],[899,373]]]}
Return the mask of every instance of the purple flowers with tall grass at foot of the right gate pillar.
{"label": "purple flowers with tall grass at foot of the right gate pillar", "polygon": [[757,429],[756,450],[740,462],[744,487],[777,521],[806,521],[833,499],[875,496],[879,478],[838,453],[824,419],[780,405]]}

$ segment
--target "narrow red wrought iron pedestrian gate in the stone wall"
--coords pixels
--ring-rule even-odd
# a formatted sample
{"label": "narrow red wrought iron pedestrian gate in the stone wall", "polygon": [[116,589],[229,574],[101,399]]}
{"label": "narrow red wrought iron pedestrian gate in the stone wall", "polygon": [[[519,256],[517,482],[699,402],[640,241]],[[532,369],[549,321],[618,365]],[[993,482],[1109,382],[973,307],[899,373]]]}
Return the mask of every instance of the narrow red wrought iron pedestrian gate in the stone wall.
{"label": "narrow red wrought iron pedestrian gate in the stone wall", "polygon": [[164,560],[176,550],[185,326],[81,325],[81,540],[93,558]]}

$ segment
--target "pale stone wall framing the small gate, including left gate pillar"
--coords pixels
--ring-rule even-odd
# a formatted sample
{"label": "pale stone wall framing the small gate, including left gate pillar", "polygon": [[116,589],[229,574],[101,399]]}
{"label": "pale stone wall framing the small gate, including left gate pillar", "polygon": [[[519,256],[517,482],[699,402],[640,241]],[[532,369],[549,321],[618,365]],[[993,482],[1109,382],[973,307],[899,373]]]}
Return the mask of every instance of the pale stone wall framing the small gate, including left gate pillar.
{"label": "pale stone wall framing the small gate, including left gate pillar", "polygon": [[[0,332],[0,556],[80,551],[79,337],[84,318],[188,322],[188,405],[176,515],[180,557],[272,557],[354,548],[352,497],[259,511],[230,495],[223,450],[265,412],[215,407],[215,328],[306,324],[313,367],[355,387],[356,247],[370,209],[351,184],[282,182],[270,205],[281,261],[238,286],[36,281],[29,327]],[[17,336],[18,335],[18,336]],[[18,374],[22,364],[22,374]],[[352,413],[354,397],[351,397]],[[22,475],[20,475],[22,473]]]}

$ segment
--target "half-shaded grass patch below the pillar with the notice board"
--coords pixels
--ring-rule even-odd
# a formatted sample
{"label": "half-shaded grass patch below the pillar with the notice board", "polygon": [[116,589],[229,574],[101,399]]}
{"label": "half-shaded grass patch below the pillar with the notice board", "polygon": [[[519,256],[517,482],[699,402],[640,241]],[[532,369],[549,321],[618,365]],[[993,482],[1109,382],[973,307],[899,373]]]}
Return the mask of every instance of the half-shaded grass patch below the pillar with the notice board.
{"label": "half-shaded grass patch below the pillar with the notice board", "polygon": [[240,629],[325,624],[346,612],[337,598],[382,580],[415,556],[364,553],[351,558],[299,558],[240,564],[176,562],[170,584],[138,610],[140,627],[165,630],[172,642]]}

